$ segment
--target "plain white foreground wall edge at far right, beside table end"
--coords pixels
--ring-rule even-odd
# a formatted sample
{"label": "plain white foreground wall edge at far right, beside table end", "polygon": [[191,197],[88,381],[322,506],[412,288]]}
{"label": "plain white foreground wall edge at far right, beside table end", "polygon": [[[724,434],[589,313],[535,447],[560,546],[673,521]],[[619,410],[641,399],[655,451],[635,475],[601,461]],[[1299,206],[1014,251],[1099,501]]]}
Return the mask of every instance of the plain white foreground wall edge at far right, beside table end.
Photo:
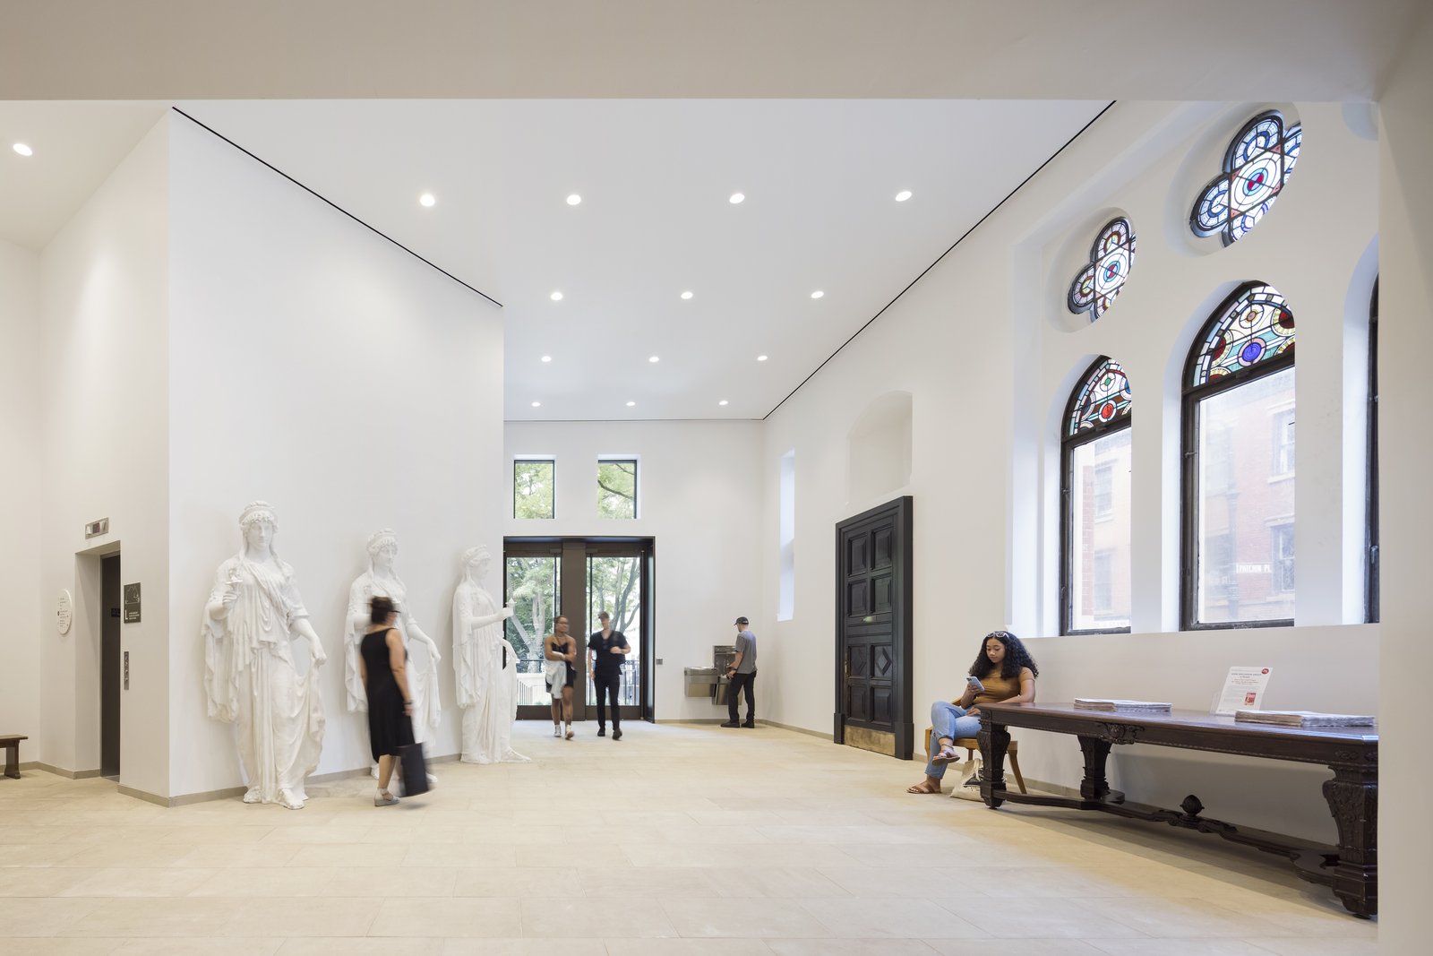
{"label": "plain white foreground wall edge at far right, beside table end", "polygon": [[1383,654],[1379,801],[1381,916],[1386,953],[1427,946],[1422,892],[1433,851],[1427,793],[1433,788],[1426,724],[1413,718],[1427,701],[1433,672],[1429,641],[1427,499],[1429,408],[1433,408],[1433,14],[1410,37],[1380,99],[1380,204],[1383,277],[1379,282],[1379,434],[1383,549]]}

